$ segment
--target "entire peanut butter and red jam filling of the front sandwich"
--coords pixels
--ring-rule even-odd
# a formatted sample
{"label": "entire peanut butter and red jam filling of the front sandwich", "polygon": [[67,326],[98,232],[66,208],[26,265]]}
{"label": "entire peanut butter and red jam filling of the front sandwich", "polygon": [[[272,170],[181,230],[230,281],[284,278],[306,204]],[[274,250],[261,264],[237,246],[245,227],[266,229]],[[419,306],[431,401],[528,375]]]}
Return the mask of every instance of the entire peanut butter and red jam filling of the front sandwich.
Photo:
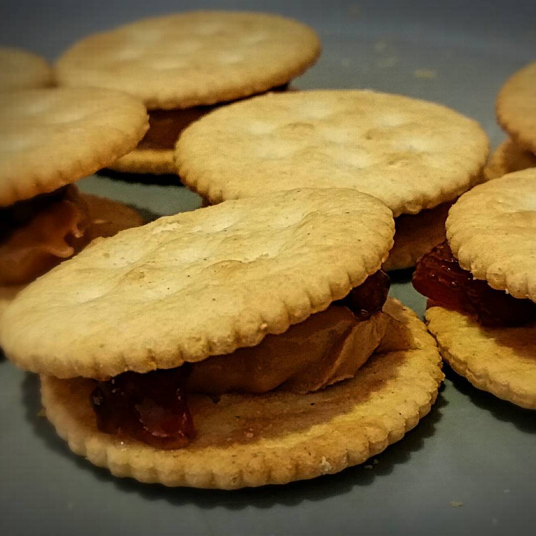
{"label": "entire peanut butter and red jam filling of the front sandwich", "polygon": [[[169,370],[126,372],[99,382],[91,397],[97,425],[105,433],[176,449],[196,434],[188,392],[307,393],[353,377],[382,344],[389,322],[396,322],[381,312],[388,292],[388,276],[376,272],[343,300],[284,334],[266,336],[254,348]],[[407,348],[408,339],[399,339]],[[389,349],[403,348],[383,351]]]}

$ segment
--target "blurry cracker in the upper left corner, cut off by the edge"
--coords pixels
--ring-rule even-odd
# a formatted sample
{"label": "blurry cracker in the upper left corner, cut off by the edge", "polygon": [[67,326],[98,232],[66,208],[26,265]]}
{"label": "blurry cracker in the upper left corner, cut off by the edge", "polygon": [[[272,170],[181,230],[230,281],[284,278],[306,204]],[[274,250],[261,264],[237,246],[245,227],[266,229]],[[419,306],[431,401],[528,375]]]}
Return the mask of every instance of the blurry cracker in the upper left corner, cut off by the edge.
{"label": "blurry cracker in the upper left corner, cut off by the edge", "polygon": [[46,59],[26,50],[0,47],[0,91],[25,90],[52,84]]}

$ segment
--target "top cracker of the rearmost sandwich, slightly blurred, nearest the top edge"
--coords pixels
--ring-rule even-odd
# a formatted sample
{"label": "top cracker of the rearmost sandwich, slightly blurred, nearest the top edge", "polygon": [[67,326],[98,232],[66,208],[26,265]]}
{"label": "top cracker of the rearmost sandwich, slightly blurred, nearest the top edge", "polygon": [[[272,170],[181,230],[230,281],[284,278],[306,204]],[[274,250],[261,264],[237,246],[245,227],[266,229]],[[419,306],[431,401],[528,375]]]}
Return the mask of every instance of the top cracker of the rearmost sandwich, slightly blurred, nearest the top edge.
{"label": "top cracker of the rearmost sandwich, slightly blurred, nearest the top edge", "polygon": [[56,64],[59,83],[123,90],[148,109],[240,99],[286,84],[315,63],[316,33],[272,14],[192,11],[91,35]]}

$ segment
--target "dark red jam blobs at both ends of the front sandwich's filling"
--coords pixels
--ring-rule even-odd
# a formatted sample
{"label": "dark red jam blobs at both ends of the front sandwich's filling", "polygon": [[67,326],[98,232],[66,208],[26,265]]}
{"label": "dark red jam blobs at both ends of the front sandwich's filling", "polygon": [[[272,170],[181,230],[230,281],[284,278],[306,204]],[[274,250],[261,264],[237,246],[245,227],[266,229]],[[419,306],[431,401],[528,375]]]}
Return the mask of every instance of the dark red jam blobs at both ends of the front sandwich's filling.
{"label": "dark red jam blobs at both ends of the front sandwich's filling", "polygon": [[[378,271],[342,300],[359,321],[381,311],[389,293],[389,277]],[[185,384],[189,366],[154,370],[145,374],[125,372],[99,382],[91,403],[99,430],[132,437],[157,449],[180,449],[196,436],[188,408]]]}

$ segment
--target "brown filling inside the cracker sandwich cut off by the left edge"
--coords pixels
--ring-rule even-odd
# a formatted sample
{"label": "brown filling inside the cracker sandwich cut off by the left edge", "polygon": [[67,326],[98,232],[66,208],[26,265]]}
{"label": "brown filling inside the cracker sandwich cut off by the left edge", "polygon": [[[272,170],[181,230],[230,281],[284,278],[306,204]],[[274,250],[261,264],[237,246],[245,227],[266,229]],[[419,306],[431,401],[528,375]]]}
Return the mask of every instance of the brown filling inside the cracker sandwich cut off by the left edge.
{"label": "brown filling inside the cracker sandwich cut off by the left edge", "polygon": [[89,225],[73,185],[0,209],[0,285],[24,285],[71,257]]}

